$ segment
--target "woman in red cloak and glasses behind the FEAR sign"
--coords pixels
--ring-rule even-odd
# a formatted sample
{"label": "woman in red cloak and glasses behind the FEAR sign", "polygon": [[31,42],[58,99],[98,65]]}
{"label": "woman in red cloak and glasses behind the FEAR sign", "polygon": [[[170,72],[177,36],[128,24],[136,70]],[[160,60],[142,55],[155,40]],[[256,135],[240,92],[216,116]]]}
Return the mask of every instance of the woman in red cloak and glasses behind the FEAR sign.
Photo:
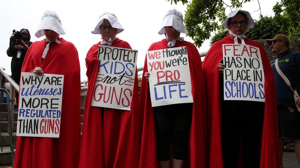
{"label": "woman in red cloak and glasses behind the FEAR sign", "polygon": [[[263,47],[245,36],[246,29],[254,27],[254,21],[249,12],[238,10],[230,13],[223,25],[229,29],[230,35],[215,42],[203,62],[208,105],[209,166],[236,167],[241,151],[243,163],[240,162],[239,167],[279,167],[273,72]],[[222,44],[233,43],[260,49],[265,77],[265,102],[224,100]]]}

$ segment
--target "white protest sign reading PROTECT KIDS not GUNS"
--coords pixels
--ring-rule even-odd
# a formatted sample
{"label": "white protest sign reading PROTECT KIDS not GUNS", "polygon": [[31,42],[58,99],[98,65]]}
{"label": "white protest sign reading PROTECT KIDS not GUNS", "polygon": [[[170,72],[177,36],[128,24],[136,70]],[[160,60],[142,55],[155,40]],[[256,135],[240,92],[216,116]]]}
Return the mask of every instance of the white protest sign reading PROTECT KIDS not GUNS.
{"label": "white protest sign reading PROTECT KIDS not GUNS", "polygon": [[137,50],[99,45],[92,106],[130,110]]}

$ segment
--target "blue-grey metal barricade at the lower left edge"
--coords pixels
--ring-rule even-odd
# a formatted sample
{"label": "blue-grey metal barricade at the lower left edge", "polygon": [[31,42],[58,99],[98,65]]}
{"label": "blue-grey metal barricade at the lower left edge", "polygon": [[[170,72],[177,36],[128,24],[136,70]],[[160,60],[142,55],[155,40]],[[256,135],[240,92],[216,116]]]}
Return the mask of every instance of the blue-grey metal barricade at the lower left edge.
{"label": "blue-grey metal barricade at the lower left edge", "polygon": [[[6,92],[6,95],[9,95],[9,92],[6,89],[0,88],[0,93],[2,91]],[[0,155],[6,155],[6,154],[11,154],[11,164],[12,167],[14,167],[14,149],[16,148],[15,145],[13,145],[13,130],[12,130],[12,124],[11,124],[11,113],[10,113],[10,103],[14,102],[14,98],[9,98],[7,100],[7,121],[8,121],[8,134],[9,134],[9,139],[10,139],[10,151],[3,151],[3,145],[2,145],[2,130],[1,130],[1,120],[0,120],[0,146],[1,146],[1,151]],[[13,113],[14,114],[14,113]]]}

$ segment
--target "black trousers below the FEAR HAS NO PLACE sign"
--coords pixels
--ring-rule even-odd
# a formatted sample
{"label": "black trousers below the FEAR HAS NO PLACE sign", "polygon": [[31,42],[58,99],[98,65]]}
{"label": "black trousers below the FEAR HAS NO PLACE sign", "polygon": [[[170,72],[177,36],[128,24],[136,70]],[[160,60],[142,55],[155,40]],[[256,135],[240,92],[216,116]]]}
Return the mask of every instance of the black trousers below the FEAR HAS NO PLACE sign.
{"label": "black trousers below the FEAR HAS NO PLACE sign", "polygon": [[224,168],[236,167],[240,143],[245,168],[259,168],[263,115],[263,102],[222,101]]}

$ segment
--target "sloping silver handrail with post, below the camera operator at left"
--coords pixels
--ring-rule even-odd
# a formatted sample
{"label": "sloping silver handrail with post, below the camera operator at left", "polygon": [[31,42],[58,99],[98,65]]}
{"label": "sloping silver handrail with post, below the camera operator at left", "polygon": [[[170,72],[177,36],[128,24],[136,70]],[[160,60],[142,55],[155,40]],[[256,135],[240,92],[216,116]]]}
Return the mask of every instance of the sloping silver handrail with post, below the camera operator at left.
{"label": "sloping silver handrail with post, below the camera operator at left", "polygon": [[[9,98],[14,99],[15,93],[19,93],[19,85],[5,72],[5,70],[0,67],[0,84],[2,84],[2,76],[10,83],[10,93]],[[1,93],[2,94],[2,93]],[[10,122],[13,128],[14,124],[14,101],[10,102]],[[9,130],[7,130],[9,133]]]}

